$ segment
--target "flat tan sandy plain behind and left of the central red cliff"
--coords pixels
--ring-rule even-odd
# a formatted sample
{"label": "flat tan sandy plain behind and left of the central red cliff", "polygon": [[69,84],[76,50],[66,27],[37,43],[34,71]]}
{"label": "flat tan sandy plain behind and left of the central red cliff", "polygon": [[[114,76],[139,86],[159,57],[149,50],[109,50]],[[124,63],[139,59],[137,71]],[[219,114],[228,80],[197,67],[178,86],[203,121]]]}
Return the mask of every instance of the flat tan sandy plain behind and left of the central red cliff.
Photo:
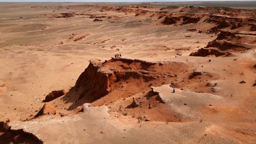
{"label": "flat tan sandy plain behind and left of the central red cliff", "polygon": [[[81,8],[80,11],[90,9]],[[182,29],[181,26],[154,26],[152,20],[134,18],[134,14],[130,14],[132,19],[124,13],[118,14],[125,18],[112,20],[115,23],[108,20],[93,22],[94,19],[89,18],[34,18],[39,14],[54,14],[53,10],[26,6],[14,8],[10,14],[1,12],[1,84],[5,84],[0,87],[3,92],[1,107],[4,107],[1,108],[4,114],[1,120],[10,116],[12,120],[27,118],[30,112],[42,107],[42,100],[48,92],[59,89],[68,91],[89,64],[88,60],[93,58],[108,60],[118,52],[131,58],[171,59],[175,58],[176,48],[195,49],[214,40],[214,37],[198,33],[194,33],[192,38],[184,38],[184,35],[193,34],[186,31],[189,26]],[[56,13],[75,11],[78,10],[63,8]],[[116,13],[108,12],[108,15],[116,16]],[[90,36],[74,42],[68,40],[72,34]],[[200,42],[196,43],[199,39]],[[101,43],[104,40],[107,41]],[[61,41],[64,44],[59,45]],[[21,113],[17,115],[13,111],[15,108]]]}

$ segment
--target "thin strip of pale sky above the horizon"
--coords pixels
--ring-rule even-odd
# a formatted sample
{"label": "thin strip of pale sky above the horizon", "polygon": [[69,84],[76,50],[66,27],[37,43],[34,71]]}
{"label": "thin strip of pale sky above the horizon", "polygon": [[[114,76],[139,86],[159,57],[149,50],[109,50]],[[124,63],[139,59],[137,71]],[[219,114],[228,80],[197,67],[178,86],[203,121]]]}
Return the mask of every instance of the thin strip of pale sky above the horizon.
{"label": "thin strip of pale sky above the horizon", "polygon": [[[0,0],[0,2],[182,2],[182,1],[209,1],[209,0]],[[234,0],[212,0],[212,1],[234,1]],[[249,1],[249,0],[239,0],[239,1]]]}

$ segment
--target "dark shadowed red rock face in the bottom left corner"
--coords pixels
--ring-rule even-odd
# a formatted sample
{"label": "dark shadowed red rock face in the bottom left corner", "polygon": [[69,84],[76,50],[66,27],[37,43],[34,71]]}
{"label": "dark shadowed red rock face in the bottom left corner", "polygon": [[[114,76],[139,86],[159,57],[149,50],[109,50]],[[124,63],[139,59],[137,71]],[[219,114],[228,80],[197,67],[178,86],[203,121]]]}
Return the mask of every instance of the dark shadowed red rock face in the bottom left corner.
{"label": "dark shadowed red rock face in the bottom left corner", "polygon": [[11,130],[5,122],[0,122],[0,143],[1,144],[43,144],[33,134],[23,130]]}

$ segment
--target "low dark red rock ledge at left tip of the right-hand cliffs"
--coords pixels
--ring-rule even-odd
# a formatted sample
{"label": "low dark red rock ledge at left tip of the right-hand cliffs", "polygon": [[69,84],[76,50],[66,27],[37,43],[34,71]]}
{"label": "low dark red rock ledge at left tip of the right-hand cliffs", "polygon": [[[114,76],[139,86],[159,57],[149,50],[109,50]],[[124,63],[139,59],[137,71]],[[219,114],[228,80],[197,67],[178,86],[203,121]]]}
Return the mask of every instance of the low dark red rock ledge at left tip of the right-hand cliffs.
{"label": "low dark red rock ledge at left tip of the right-hand cliffs", "polygon": [[192,52],[189,56],[226,56],[227,53],[225,52],[220,52],[218,49],[214,48],[200,48],[197,52]]}

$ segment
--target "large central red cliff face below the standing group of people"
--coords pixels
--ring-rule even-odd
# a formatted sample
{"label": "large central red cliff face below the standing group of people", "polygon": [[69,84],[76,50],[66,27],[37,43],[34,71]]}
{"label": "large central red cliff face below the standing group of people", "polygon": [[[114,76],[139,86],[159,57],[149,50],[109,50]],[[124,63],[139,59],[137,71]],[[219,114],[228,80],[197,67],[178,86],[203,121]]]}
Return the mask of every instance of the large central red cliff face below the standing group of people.
{"label": "large central red cliff face below the standing group of people", "polygon": [[97,101],[98,106],[127,98],[150,86],[171,83],[176,74],[187,70],[188,66],[177,62],[146,62],[125,58],[112,58],[106,62],[90,61],[76,85],[62,98],[72,103],[68,110],[74,110],[84,103]]}

